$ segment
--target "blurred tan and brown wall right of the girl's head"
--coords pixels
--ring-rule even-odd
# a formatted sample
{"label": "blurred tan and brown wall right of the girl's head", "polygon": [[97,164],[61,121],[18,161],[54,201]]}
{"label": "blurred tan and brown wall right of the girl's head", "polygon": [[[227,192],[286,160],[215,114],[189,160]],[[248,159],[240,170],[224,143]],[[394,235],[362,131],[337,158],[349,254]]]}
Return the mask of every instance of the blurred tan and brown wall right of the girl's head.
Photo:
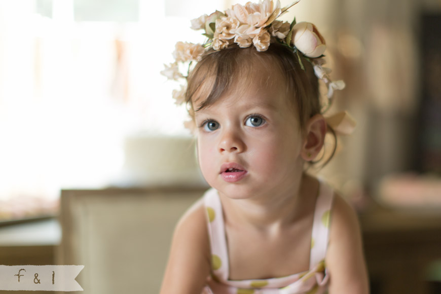
{"label": "blurred tan and brown wall right of the girl's head", "polygon": [[306,4],[313,21],[316,17],[318,25],[324,24],[319,30],[327,41],[333,78],[346,82],[329,113],[348,109],[358,123],[353,135],[340,139],[342,152],[320,173],[340,188],[357,181],[375,194],[385,175],[418,167],[421,19],[423,14],[441,13],[441,2],[316,0]]}

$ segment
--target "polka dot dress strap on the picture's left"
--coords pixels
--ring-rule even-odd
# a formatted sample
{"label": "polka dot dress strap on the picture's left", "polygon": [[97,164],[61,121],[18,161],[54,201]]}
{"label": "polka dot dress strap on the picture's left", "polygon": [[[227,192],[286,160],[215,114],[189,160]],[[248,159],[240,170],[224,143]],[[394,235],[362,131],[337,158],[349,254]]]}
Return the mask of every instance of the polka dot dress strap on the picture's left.
{"label": "polka dot dress strap on the picture's left", "polygon": [[222,203],[217,191],[213,188],[204,194],[204,204],[207,211],[208,234],[211,249],[211,270],[219,280],[228,279],[228,252],[225,238],[224,215]]}

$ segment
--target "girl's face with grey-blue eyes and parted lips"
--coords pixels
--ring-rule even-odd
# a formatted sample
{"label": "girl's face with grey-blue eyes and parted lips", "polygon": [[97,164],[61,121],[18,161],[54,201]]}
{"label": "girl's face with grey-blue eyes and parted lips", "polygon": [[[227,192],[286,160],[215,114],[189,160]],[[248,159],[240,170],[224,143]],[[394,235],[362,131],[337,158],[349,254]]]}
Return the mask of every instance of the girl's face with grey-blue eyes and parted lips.
{"label": "girl's face with grey-blue eyes and parted lips", "polygon": [[249,83],[237,83],[195,120],[202,174],[219,193],[234,199],[289,193],[302,175],[304,138],[279,70],[253,65]]}

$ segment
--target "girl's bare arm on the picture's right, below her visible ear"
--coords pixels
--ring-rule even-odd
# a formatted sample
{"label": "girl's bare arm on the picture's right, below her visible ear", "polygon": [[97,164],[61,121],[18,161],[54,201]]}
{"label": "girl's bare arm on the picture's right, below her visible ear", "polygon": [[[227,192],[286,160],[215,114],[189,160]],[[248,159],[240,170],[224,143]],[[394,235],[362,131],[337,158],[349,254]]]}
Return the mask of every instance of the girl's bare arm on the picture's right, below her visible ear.
{"label": "girl's bare arm on the picture's right, below her visible ear", "polygon": [[329,294],[369,293],[358,218],[338,195],[331,216],[326,267],[330,275]]}

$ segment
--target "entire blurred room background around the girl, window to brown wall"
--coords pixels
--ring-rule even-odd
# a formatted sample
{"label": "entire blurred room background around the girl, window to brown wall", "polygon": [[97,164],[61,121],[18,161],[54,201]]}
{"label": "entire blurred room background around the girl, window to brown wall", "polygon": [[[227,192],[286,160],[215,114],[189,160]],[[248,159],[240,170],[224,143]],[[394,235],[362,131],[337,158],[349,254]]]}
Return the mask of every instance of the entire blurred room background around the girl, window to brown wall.
{"label": "entire blurred room background around the girl, window to brown wall", "polygon": [[[149,265],[132,292],[158,290],[173,226],[207,188],[159,72],[177,41],[204,41],[191,19],[235,3],[0,1],[0,264],[84,264],[93,293]],[[441,293],[441,2],[303,0],[293,16],[347,85],[329,113],[357,128],[318,173],[359,212],[372,292]]]}

